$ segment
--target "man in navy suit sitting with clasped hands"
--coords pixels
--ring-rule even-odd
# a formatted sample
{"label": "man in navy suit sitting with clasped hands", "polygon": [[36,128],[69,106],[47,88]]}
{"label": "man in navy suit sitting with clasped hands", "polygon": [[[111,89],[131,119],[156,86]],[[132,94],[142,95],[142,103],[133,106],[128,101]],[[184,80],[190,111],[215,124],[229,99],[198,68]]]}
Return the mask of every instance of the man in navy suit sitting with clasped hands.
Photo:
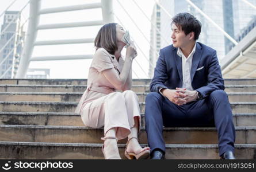
{"label": "man in navy suit sitting with clasped hands", "polygon": [[151,158],[165,158],[163,126],[216,126],[220,157],[235,159],[235,128],[216,50],[196,42],[201,23],[193,15],[177,14],[171,27],[173,45],[160,50],[146,97]]}

